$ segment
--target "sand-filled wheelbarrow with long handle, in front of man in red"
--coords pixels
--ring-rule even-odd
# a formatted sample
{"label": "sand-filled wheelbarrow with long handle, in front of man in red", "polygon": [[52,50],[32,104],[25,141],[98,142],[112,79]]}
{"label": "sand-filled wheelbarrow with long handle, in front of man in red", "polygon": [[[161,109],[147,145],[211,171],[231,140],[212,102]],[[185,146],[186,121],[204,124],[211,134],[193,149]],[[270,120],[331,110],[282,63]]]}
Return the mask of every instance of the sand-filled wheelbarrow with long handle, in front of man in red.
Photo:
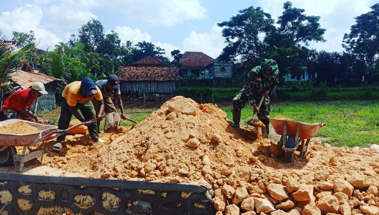
{"label": "sand-filled wheelbarrow with long handle, in front of man in red", "polygon": [[[24,163],[41,157],[41,163],[44,155],[44,143],[41,144],[41,148],[30,149],[30,146],[34,146],[40,141],[51,140],[62,134],[67,133],[67,130],[74,129],[81,125],[91,125],[94,121],[81,122],[65,130],[58,130],[58,126],[44,125],[35,122],[25,121],[22,119],[7,119],[0,122],[0,126],[7,126],[10,123],[23,121],[29,126],[36,127],[39,132],[27,133],[27,134],[13,134],[13,133],[0,133],[0,167],[7,167],[14,163],[17,173],[22,172]],[[17,154],[16,146],[23,146],[22,154]],[[26,152],[28,149],[28,153]],[[17,165],[19,163],[19,165]]]}

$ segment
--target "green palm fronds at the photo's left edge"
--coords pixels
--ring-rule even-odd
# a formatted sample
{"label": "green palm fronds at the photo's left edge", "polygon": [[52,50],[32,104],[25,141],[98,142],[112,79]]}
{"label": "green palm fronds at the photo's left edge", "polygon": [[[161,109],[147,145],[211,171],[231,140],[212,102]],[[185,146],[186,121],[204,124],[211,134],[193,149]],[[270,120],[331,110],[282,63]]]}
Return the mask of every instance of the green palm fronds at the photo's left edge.
{"label": "green palm fronds at the photo's left edge", "polygon": [[19,49],[8,50],[6,37],[2,34],[3,31],[0,30],[0,86],[3,88],[3,83],[8,81],[9,74],[17,71],[21,59],[27,56],[35,44],[30,42]]}

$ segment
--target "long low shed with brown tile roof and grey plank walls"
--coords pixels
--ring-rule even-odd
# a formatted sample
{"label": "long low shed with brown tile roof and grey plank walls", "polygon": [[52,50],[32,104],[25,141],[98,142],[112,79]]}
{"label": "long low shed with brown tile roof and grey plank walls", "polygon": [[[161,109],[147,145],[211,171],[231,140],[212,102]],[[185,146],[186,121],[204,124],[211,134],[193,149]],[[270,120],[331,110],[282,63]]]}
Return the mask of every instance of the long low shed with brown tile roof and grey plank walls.
{"label": "long low shed with brown tile roof and grey plank walls", "polygon": [[120,66],[121,93],[175,93],[178,67]]}

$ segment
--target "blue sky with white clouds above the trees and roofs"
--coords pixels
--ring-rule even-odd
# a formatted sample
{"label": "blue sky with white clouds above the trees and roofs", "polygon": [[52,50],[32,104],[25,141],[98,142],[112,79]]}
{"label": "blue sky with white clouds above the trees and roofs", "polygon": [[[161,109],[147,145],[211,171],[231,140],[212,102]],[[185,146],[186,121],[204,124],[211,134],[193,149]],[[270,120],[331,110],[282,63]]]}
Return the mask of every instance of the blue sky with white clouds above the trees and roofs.
{"label": "blue sky with white clouds above the trees and roofs", "polygon": [[[239,10],[254,6],[277,17],[285,0],[13,0],[2,2],[0,29],[8,40],[12,31],[33,30],[38,48],[53,49],[67,42],[91,18],[99,20],[105,32],[119,34],[122,42],[146,41],[170,52],[179,49],[203,52],[216,58],[225,47],[224,22]],[[325,43],[311,42],[309,48],[342,52],[341,41],[349,33],[354,17],[370,11],[377,0],[292,0],[294,8],[305,9],[308,16],[320,16],[326,28]],[[359,3],[358,3],[359,2]]]}

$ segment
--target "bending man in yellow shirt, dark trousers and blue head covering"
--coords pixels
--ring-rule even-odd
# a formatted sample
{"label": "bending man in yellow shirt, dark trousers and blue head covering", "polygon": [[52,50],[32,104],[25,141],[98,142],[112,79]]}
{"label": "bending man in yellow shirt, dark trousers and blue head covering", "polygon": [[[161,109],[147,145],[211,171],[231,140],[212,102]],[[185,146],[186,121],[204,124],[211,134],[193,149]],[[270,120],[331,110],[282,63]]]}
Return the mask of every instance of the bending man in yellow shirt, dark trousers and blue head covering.
{"label": "bending man in yellow shirt, dark trousers and blue head covering", "polygon": [[[103,96],[100,89],[95,85],[91,78],[83,78],[81,81],[72,82],[67,85],[62,93],[61,103],[61,116],[58,121],[58,129],[64,130],[69,127],[71,117],[74,115],[80,122],[91,121],[92,119],[99,118],[96,116],[96,111],[92,105],[92,98],[96,99],[96,105],[99,107],[99,113],[104,111]],[[79,111],[83,116],[80,115]],[[97,124],[88,126],[89,136],[91,143],[104,143],[105,141],[99,138]],[[65,140],[66,135],[60,135],[56,138],[56,144],[53,149],[59,151],[62,149],[62,142]]]}

